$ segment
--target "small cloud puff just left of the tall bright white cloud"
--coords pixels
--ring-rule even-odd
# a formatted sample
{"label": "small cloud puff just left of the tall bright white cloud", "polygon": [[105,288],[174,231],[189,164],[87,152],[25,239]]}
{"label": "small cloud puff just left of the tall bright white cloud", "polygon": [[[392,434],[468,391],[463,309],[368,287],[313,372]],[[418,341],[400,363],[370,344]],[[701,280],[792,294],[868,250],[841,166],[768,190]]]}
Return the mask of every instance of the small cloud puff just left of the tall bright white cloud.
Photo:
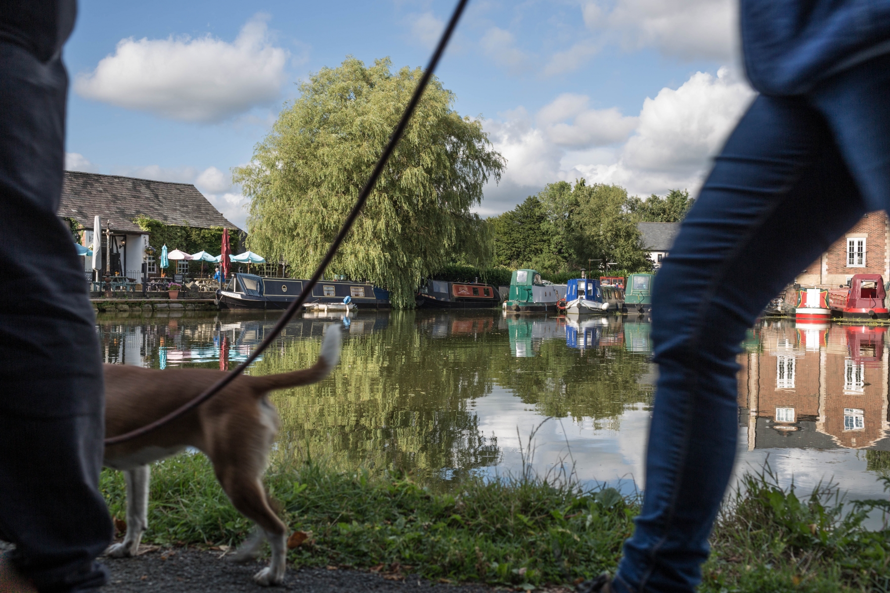
{"label": "small cloud puff just left of the tall bright white cloud", "polygon": [[[620,142],[636,127],[637,118],[627,118],[614,107],[590,110],[587,102],[583,94],[561,94],[538,111],[538,126],[554,144],[575,148]],[[573,122],[567,123],[568,119]]]}

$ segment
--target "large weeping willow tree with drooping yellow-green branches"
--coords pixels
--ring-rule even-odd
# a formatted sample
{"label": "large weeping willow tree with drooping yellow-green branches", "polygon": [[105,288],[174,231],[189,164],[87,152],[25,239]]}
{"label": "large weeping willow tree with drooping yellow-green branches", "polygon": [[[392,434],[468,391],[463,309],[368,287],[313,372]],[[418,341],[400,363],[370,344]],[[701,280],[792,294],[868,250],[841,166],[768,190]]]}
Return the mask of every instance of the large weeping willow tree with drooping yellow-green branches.
{"label": "large weeping willow tree with drooping yellow-green branches", "polygon": [[[396,73],[348,57],[300,85],[235,183],[251,198],[248,248],[308,275],[344,221],[409,102],[422,70]],[[434,78],[328,272],[389,288],[414,306],[420,280],[460,257],[485,264],[488,225],[470,209],[499,181],[504,158],[479,119],[461,118]]]}

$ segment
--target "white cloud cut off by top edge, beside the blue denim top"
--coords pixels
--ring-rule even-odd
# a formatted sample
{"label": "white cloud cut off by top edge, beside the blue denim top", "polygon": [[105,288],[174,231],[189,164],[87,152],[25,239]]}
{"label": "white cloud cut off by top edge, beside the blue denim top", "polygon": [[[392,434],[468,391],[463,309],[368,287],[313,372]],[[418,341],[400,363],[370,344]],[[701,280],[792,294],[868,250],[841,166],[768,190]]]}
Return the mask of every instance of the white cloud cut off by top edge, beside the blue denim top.
{"label": "white cloud cut off by top edge, beside the blue denim top", "polygon": [[738,54],[738,0],[618,0],[584,6],[587,28],[626,49],[655,47],[684,60],[732,61]]}

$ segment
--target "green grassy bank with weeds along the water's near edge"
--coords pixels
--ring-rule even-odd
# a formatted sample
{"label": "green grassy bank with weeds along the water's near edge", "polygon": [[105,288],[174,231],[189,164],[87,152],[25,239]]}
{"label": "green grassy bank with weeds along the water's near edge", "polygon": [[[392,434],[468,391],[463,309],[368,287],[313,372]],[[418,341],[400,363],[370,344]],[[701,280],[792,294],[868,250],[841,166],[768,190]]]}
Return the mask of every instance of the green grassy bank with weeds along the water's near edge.
{"label": "green grassy bank with weeds along the water's near edge", "polygon": [[[310,461],[272,467],[266,483],[290,528],[312,532],[290,551],[295,566],[412,570],[525,589],[613,571],[639,511],[638,500],[618,491],[530,472],[448,493],[405,475],[342,473]],[[718,521],[701,590],[890,590],[890,532],[862,524],[886,503],[844,506],[833,488],[798,500],[768,473],[748,475],[745,486]],[[101,487],[123,518],[123,475],[105,470]],[[150,500],[148,543],[231,546],[250,529],[203,455],[156,464]]]}

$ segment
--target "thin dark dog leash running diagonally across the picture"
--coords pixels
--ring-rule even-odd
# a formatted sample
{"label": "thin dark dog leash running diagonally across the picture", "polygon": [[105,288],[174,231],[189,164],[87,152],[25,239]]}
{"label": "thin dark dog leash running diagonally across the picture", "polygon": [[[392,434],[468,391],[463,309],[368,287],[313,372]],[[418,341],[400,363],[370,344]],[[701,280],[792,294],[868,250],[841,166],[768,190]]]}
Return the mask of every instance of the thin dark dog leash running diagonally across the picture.
{"label": "thin dark dog leash running diagonally across the picture", "polygon": [[359,199],[355,200],[355,205],[352,207],[349,215],[346,216],[343,227],[340,229],[340,232],[337,233],[336,239],[331,243],[330,247],[328,248],[328,253],[321,260],[319,267],[315,269],[315,273],[312,274],[312,278],[309,280],[305,288],[303,288],[303,292],[289,307],[287,307],[287,310],[281,315],[279,321],[275,324],[275,327],[271,329],[269,335],[265,337],[263,339],[263,342],[261,342],[260,345],[256,347],[255,351],[247,357],[246,361],[239,364],[239,366],[235,370],[232,370],[231,373],[214,383],[213,386],[207,388],[204,393],[198,395],[190,402],[183,404],[176,410],[173,410],[163,418],[158,418],[150,424],[142,426],[141,428],[136,428],[135,430],[131,430],[130,432],[123,435],[112,436],[111,438],[105,439],[106,447],[110,445],[116,445],[118,443],[124,443],[125,441],[130,441],[136,437],[150,433],[152,430],[155,430],[160,426],[164,426],[169,422],[173,422],[176,418],[180,418],[183,414],[187,414],[191,410],[194,410],[199,405],[213,397],[215,394],[218,394],[220,391],[222,391],[225,386],[234,381],[236,377],[238,377],[242,372],[244,372],[245,369],[247,369],[248,366],[250,366],[251,362],[256,360],[257,356],[263,353],[263,350],[271,345],[273,340],[278,338],[279,333],[287,325],[287,322],[294,317],[295,313],[300,309],[301,306],[303,306],[306,298],[308,298],[308,296],[312,293],[312,287],[314,287],[318,283],[319,279],[321,278],[321,274],[324,273],[325,269],[328,267],[328,264],[330,264],[331,260],[336,255],[336,251],[338,248],[340,248],[340,244],[343,243],[346,235],[349,233],[350,229],[352,229],[352,223],[355,222],[355,219],[361,212],[361,207],[365,205],[365,201],[368,199],[371,191],[374,190],[374,186],[377,183],[377,178],[380,177],[381,173],[383,173],[386,162],[392,156],[392,151],[395,150],[396,145],[401,140],[401,135],[405,132],[405,128],[408,126],[408,122],[410,121],[411,116],[414,115],[414,110],[417,108],[417,103],[420,102],[420,97],[423,96],[426,85],[430,82],[430,78],[433,77],[433,71],[435,71],[442,53],[445,53],[445,47],[448,46],[451,34],[454,32],[454,29],[457,28],[457,21],[460,20],[460,15],[464,12],[464,8],[468,1],[469,0],[459,0],[457,2],[457,6],[455,7],[454,12],[451,14],[451,19],[449,20],[448,26],[442,32],[442,36],[439,39],[439,44],[436,45],[436,49],[433,52],[433,57],[430,58],[430,62],[426,66],[424,76],[420,78],[420,84],[417,85],[414,94],[411,95],[411,101],[409,101],[408,106],[405,108],[405,112],[401,116],[399,125],[396,126],[395,130],[392,131],[392,136],[390,136],[389,142],[386,144],[386,148],[384,149],[383,154],[381,154],[380,158],[377,160],[376,167],[374,167],[374,171],[368,178],[368,183],[365,183],[365,186],[361,189]]}

